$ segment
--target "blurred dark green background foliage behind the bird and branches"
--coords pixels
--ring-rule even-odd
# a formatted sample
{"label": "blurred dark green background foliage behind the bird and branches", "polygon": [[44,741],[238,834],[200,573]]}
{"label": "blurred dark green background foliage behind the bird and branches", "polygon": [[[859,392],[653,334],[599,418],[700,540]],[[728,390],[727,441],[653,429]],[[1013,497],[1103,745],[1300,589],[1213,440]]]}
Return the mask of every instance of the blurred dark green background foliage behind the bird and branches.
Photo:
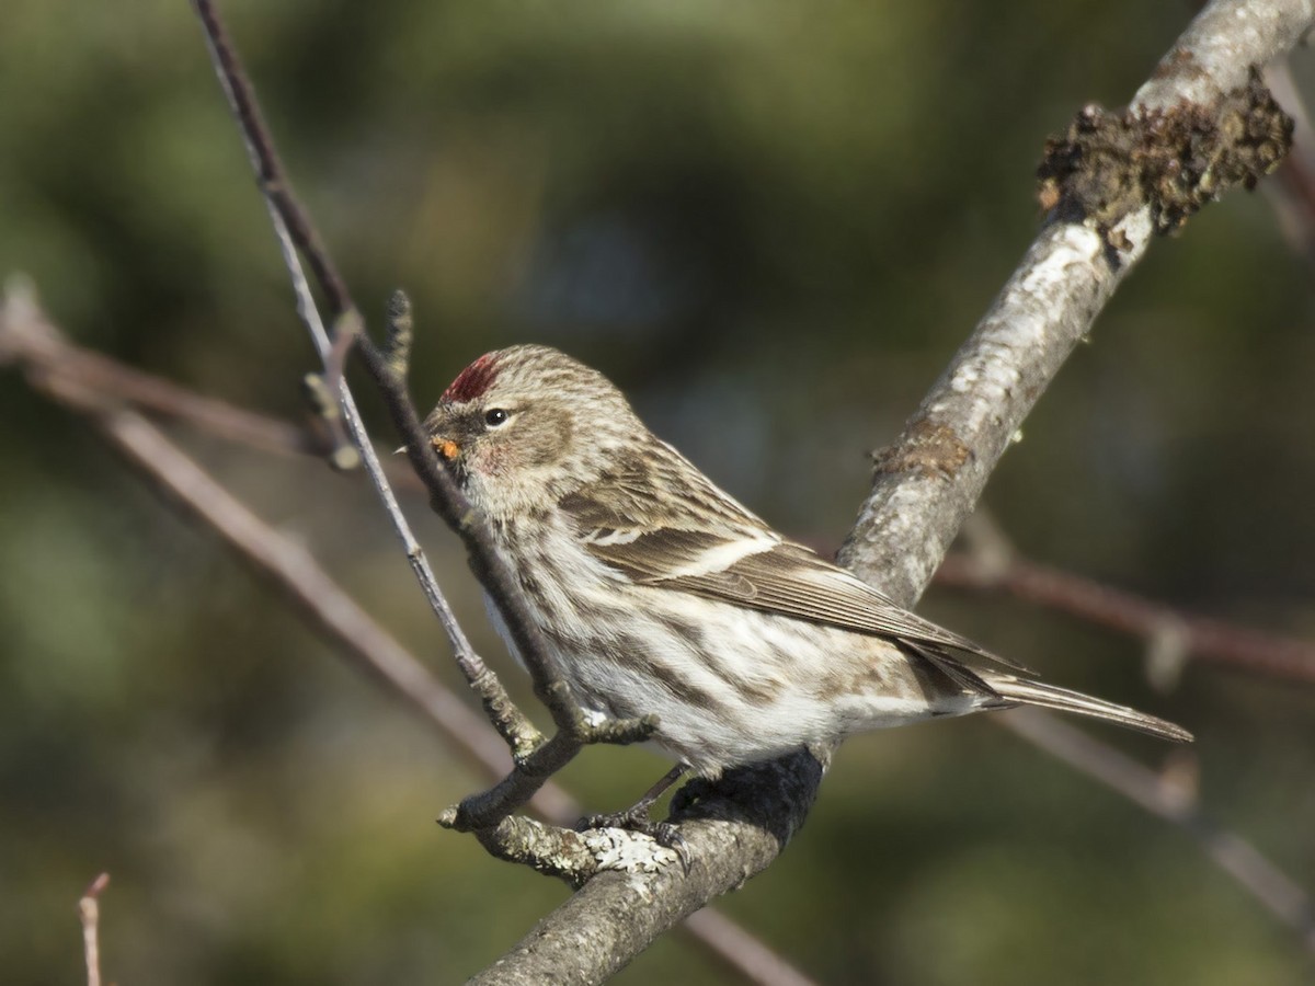
{"label": "blurred dark green background foliage behind the bird and branches", "polygon": [[[358,301],[373,314],[412,292],[421,404],[484,350],[559,344],[819,546],[852,521],[865,450],[1035,230],[1044,135],[1088,100],[1126,101],[1190,16],[1132,0],[222,7]],[[30,275],[83,344],[301,415],[312,352],[188,5],[11,4],[0,93],[0,273]],[[1120,292],[988,505],[1041,559],[1310,635],[1312,322],[1310,268],[1266,202],[1207,209]],[[74,903],[100,869],[122,983],[451,982],[563,898],[439,831],[481,778],[82,421],[0,381],[7,981],[79,979]],[[359,477],[179,436],[455,682]],[[410,510],[496,655],[451,540]],[[1135,642],[998,601],[926,609],[1197,730],[1205,803],[1311,883],[1308,690],[1190,667],[1156,695]],[[590,751],[565,781],[605,809],[660,769]],[[1310,974],[1182,833],[980,720],[849,743],[797,843],[725,906],[835,983]],[[722,973],[669,937],[618,981],[676,977]]]}

